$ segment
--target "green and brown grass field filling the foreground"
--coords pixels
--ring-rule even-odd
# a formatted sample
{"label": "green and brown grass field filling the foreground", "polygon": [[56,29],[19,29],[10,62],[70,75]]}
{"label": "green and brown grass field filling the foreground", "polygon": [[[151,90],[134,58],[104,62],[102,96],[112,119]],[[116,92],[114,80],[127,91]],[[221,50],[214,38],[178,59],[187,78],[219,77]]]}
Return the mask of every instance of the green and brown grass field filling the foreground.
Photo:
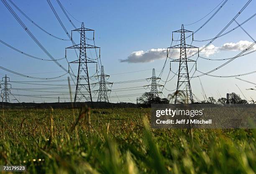
{"label": "green and brown grass field filling the foreground", "polygon": [[150,109],[1,109],[0,165],[27,173],[254,174],[255,129],[150,129]]}

